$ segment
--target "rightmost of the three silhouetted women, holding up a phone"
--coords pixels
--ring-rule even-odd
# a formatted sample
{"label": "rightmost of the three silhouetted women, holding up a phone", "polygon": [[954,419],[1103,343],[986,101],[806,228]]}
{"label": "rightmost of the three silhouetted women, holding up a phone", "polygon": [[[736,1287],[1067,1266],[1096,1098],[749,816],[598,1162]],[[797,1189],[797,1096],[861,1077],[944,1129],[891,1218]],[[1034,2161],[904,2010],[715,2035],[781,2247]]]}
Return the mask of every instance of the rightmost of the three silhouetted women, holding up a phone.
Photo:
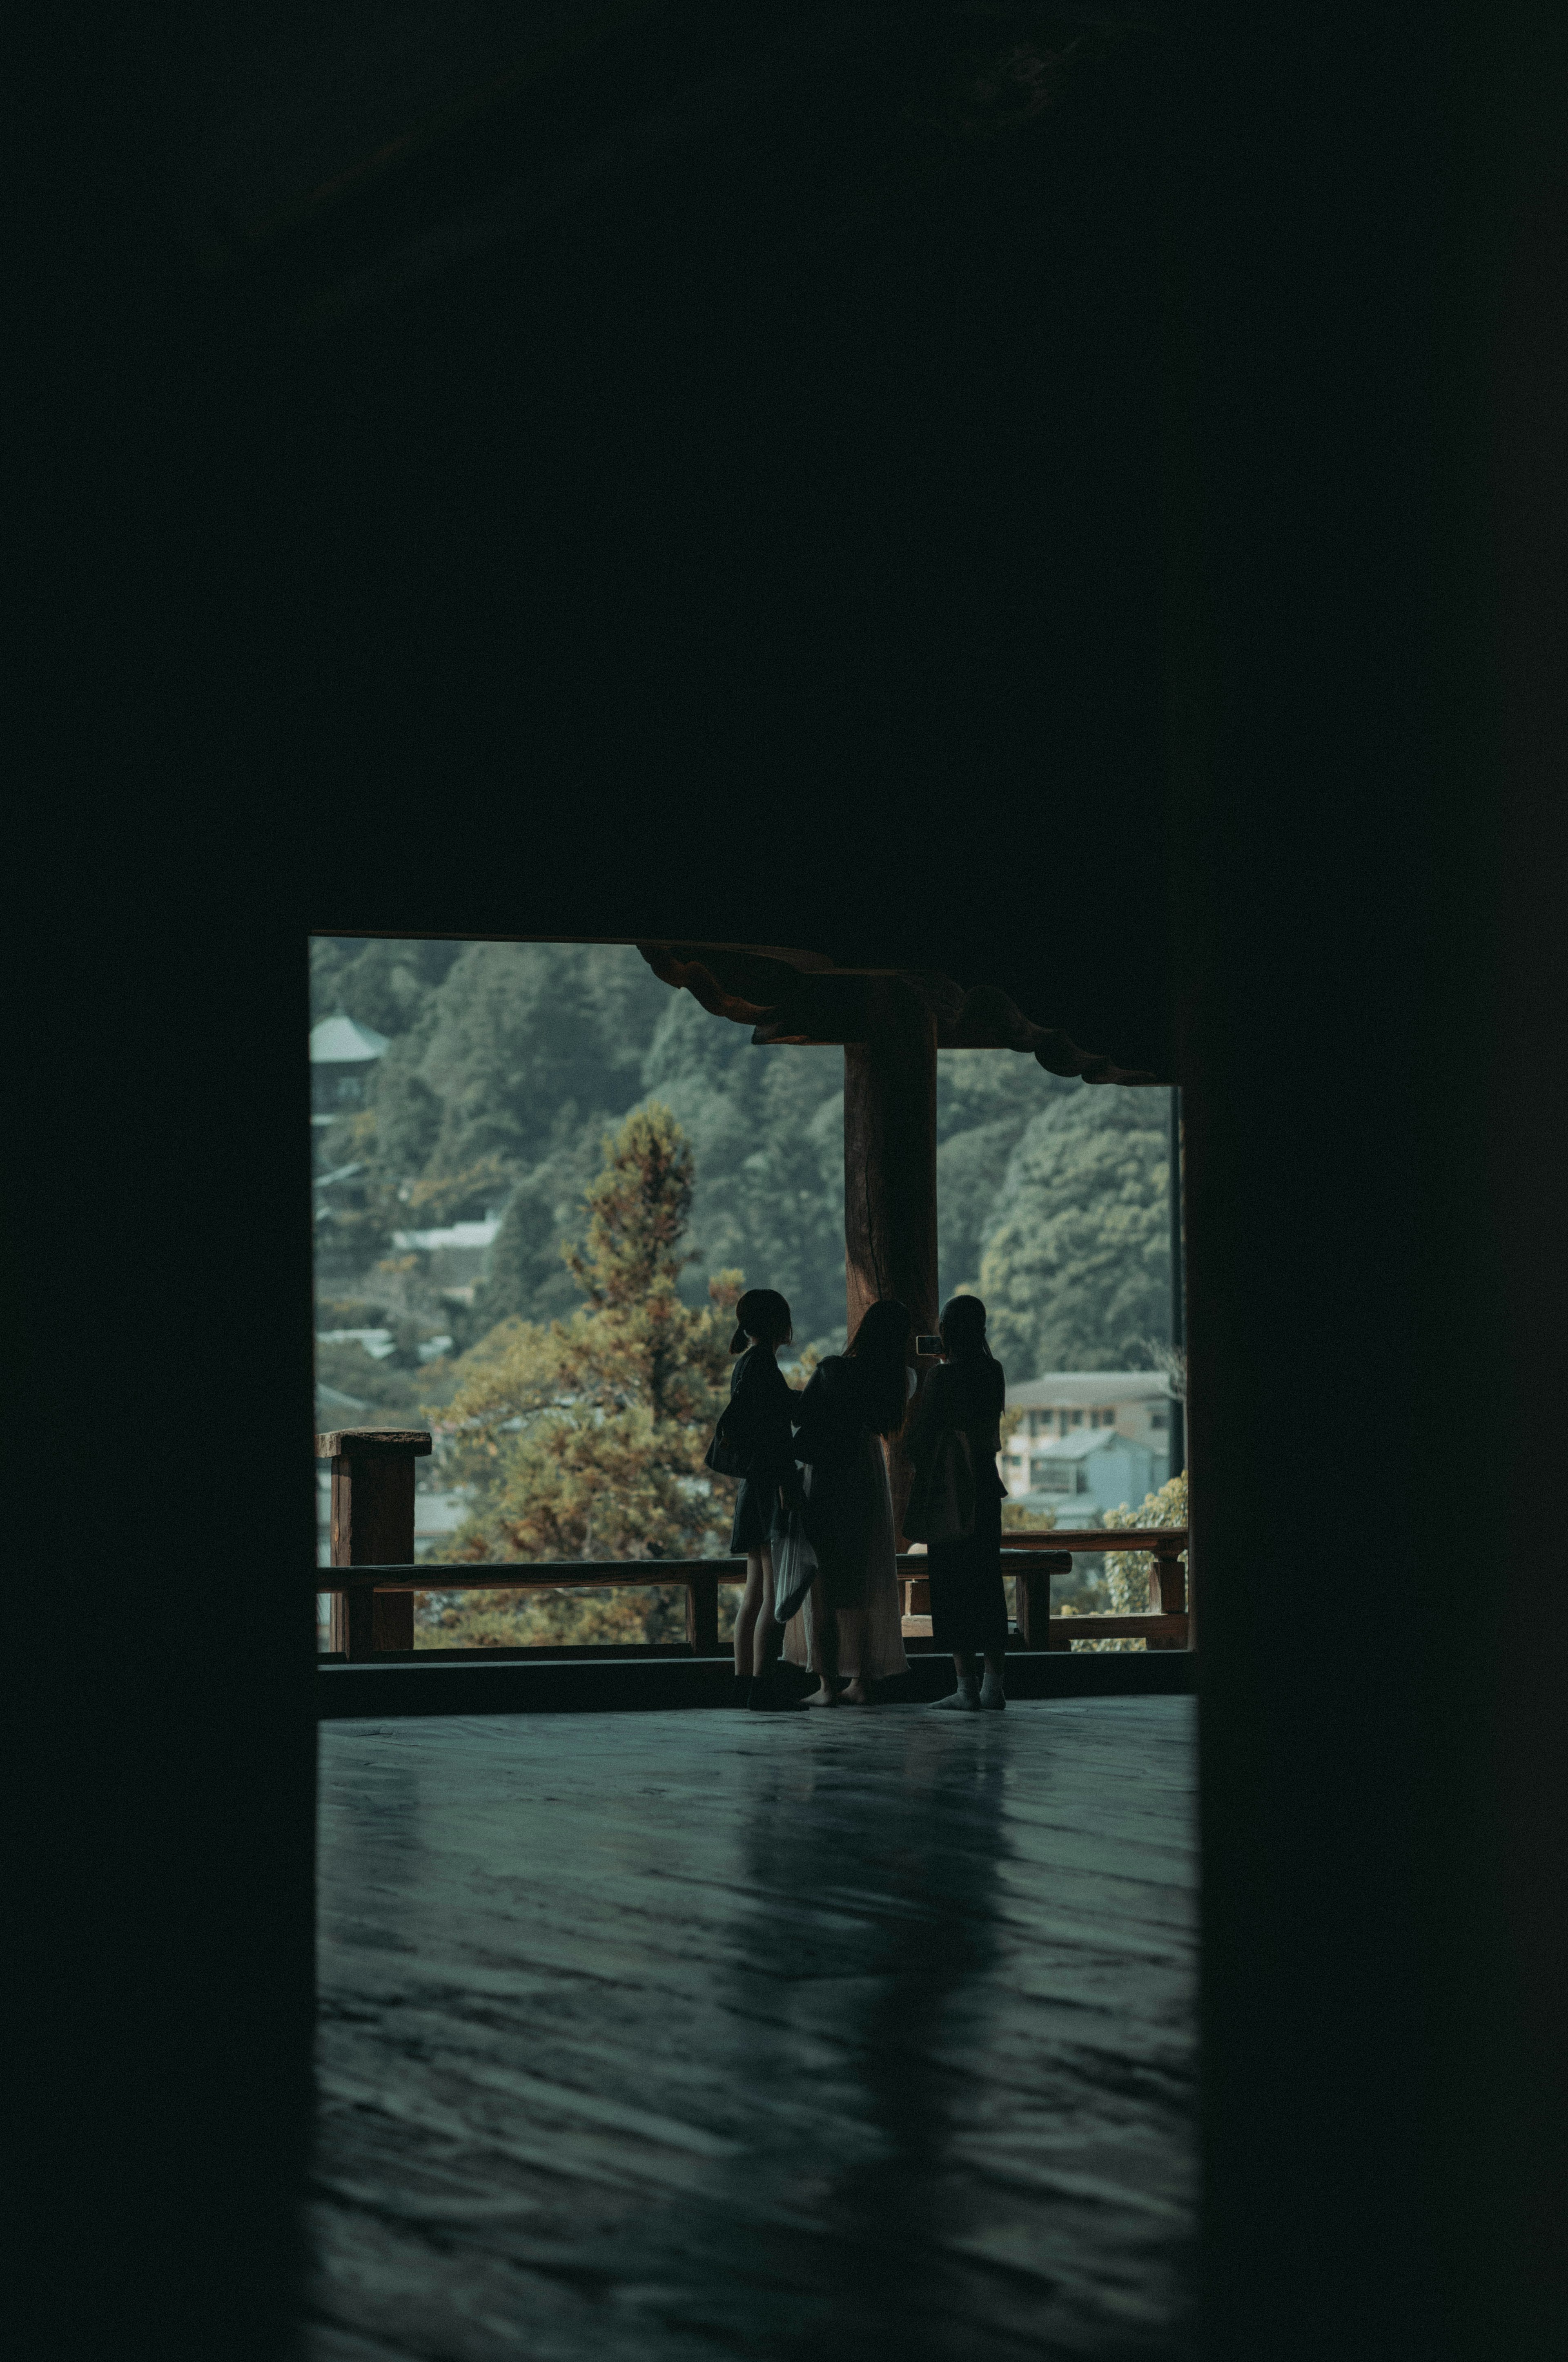
{"label": "rightmost of the three silhouetted women, holding up a phone", "polygon": [[[973,1474],[973,1523],[926,1545],[930,1568],[930,1637],[949,1649],[959,1686],[937,1705],[975,1712],[1006,1705],[1001,1672],[1008,1644],[1008,1611],[1001,1590],[1001,1500],[997,1472],[1006,1372],[985,1342],[980,1297],[954,1297],[942,1306],[942,1353],[926,1379],[909,1422],[909,1457],[916,1483],[933,1467],[942,1434],[961,1441]],[[968,1507],[968,1502],[966,1502]],[[985,1658],[985,1682],[975,1670]]]}

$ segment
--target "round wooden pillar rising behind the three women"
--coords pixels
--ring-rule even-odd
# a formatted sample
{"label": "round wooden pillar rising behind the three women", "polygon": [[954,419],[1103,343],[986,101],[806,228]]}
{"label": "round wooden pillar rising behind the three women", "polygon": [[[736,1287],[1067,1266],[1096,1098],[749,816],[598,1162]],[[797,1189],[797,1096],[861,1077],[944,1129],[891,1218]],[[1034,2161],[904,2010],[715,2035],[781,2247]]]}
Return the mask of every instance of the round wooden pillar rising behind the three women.
{"label": "round wooden pillar rising behind the three women", "polygon": [[[867,987],[867,1039],[843,1051],[843,1264],[850,1335],[881,1297],[937,1325],[937,1023],[900,978]],[[909,1339],[914,1349],[914,1337]],[[912,1467],[888,1448],[895,1523]],[[902,1535],[900,1535],[902,1545]]]}

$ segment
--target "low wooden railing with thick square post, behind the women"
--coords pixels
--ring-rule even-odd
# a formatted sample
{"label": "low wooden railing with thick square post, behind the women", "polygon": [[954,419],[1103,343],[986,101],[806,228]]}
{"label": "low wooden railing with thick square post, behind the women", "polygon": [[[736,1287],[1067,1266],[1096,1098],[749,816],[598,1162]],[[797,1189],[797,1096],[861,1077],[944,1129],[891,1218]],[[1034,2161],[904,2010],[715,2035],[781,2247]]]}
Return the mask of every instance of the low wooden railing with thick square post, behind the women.
{"label": "low wooden railing with thick square post, behind the women", "polygon": [[[316,1436],[316,1457],[333,1464],[333,1564],[316,1568],[316,1590],[333,1599],[331,1646],[349,1663],[413,1649],[416,1592],[555,1592],[668,1585],[685,1590],[680,1653],[718,1656],[718,1587],[744,1583],[744,1559],[562,1559],[501,1564],[413,1564],[413,1462],[430,1453],[420,1429],[349,1427]],[[1188,1587],[1181,1554],[1185,1526],[1126,1531],[1008,1533],[1004,1578],[1013,1578],[1018,1637],[1025,1649],[1070,1649],[1074,1639],[1143,1639],[1150,1649],[1188,1646]],[[1148,1549],[1148,1616],[1053,1616],[1051,1575],[1074,1557]],[[916,1639],[930,1613],[923,1554],[897,1561],[904,1630]],[[914,1630],[912,1630],[914,1627]],[[463,1651],[479,1653],[479,1651]],[[482,1651],[491,1656],[494,1651]],[[527,1651],[534,1656],[536,1651]],[[543,1653],[543,1651],[538,1651]],[[576,1651],[574,1651],[576,1653]],[[600,1656],[600,1649],[583,1651]],[[642,1651],[635,1651],[642,1653]]]}

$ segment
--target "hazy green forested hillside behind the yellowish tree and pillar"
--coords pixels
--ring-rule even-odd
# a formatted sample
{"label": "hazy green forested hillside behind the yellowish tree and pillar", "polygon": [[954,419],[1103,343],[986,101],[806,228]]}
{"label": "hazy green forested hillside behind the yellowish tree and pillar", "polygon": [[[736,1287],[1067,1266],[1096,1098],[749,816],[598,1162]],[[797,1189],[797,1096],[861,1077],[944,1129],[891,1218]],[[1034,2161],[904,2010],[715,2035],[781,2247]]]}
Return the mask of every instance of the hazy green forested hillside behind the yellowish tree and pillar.
{"label": "hazy green forested hillside behind the yellowish tree and pillar", "polygon": [[[612,1122],[652,1096],[694,1157],[690,1301],[706,1273],[779,1287],[796,1337],[843,1335],[843,1053],[753,1049],[628,947],[359,942],[312,947],[312,1016],[390,1035],[373,1103],[321,1164],[340,1268],[371,1273],[394,1228],[503,1214],[458,1346],[512,1313],[569,1313],[562,1242]],[[1086,1087],[1011,1051],[937,1058],[942,1294],[978,1287],[1018,1377],[1148,1361],[1169,1318],[1167,1096]],[[364,1280],[359,1294],[373,1297]]]}

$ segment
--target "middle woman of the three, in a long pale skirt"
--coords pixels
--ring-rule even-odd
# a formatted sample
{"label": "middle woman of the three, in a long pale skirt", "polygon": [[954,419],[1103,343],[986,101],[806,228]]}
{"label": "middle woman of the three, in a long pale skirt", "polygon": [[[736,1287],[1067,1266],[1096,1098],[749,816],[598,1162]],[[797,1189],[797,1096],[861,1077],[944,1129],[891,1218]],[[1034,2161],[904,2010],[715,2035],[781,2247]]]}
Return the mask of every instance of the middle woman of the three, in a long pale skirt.
{"label": "middle woman of the three, in a long pale skirt", "polygon": [[784,1653],[817,1675],[808,1705],[871,1705],[871,1682],[909,1668],[881,1438],[902,1431],[912,1379],[909,1311],[888,1297],[801,1396],[793,1457],[805,1464],[803,1523],[819,1573]]}

